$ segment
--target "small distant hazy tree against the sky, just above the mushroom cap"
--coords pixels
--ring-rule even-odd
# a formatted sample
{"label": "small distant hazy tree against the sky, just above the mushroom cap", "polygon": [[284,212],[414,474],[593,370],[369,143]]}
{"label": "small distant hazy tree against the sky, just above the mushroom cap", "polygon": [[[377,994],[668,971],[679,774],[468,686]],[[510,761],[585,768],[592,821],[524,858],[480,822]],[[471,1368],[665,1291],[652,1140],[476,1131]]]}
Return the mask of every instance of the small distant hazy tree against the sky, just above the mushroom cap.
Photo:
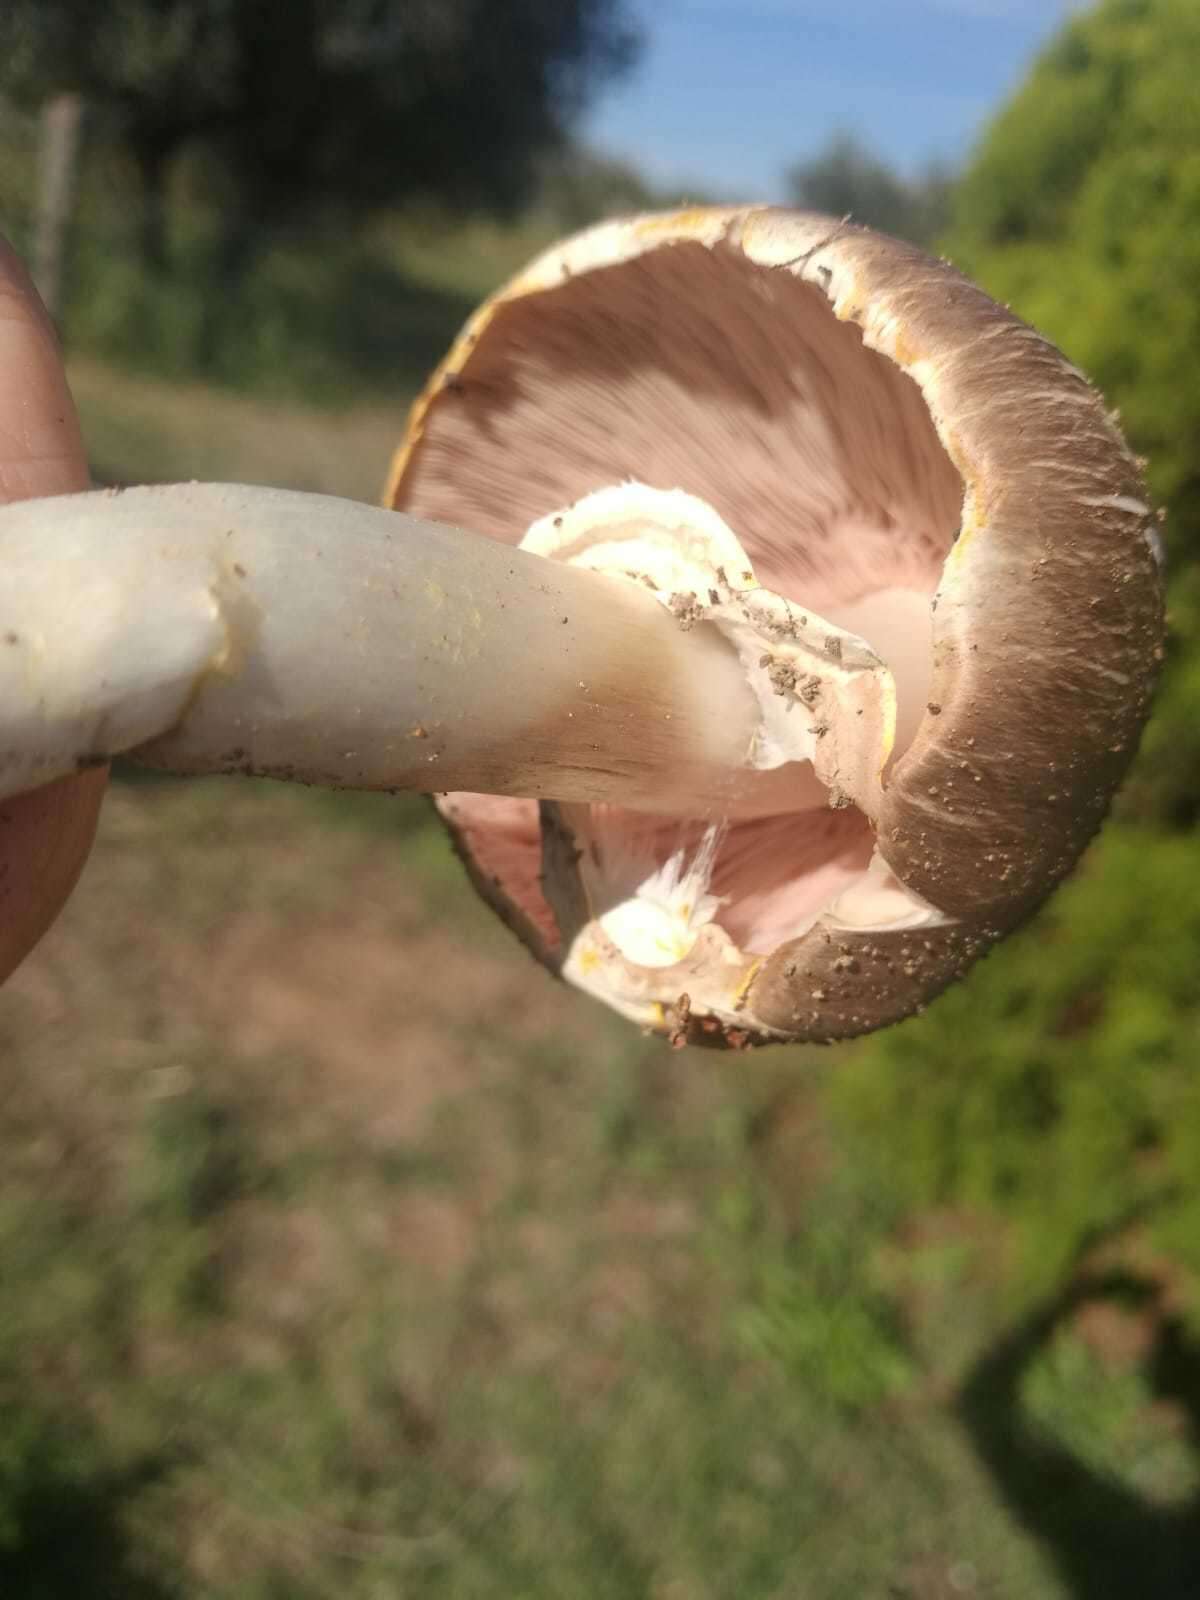
{"label": "small distant hazy tree against the sky, just above the mushroom cap", "polygon": [[930,245],[946,226],[950,176],[930,168],[915,181],[901,178],[853,133],[835,133],[824,150],[787,173],[794,205],[851,216],[882,234]]}

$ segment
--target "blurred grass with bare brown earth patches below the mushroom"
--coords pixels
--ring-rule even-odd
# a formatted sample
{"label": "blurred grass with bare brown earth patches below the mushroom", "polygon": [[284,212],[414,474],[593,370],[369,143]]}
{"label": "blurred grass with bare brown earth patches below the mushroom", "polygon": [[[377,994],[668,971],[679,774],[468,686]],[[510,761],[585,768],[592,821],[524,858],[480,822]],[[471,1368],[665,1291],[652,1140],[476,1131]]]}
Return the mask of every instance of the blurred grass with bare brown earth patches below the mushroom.
{"label": "blurred grass with bare brown earth patches below the mushroom", "polygon": [[122,782],[0,1050],[6,1592],[1059,1597],[989,1429],[1136,1536],[1194,1483],[1154,1322],[957,1405],[1014,1235],[910,1206],[861,1053],[638,1042],[422,803]]}

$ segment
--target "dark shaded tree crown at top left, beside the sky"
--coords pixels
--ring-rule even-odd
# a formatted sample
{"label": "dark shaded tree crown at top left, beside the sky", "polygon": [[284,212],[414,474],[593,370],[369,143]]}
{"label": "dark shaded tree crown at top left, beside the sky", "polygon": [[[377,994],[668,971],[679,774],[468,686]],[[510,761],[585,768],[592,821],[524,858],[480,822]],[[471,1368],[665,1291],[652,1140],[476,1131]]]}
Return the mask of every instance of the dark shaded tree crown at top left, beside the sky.
{"label": "dark shaded tree crown at top left, beside the sky", "polygon": [[230,262],[314,208],[506,211],[635,48],[624,0],[5,0],[0,91],[112,114],[162,267],[184,147],[224,174]]}

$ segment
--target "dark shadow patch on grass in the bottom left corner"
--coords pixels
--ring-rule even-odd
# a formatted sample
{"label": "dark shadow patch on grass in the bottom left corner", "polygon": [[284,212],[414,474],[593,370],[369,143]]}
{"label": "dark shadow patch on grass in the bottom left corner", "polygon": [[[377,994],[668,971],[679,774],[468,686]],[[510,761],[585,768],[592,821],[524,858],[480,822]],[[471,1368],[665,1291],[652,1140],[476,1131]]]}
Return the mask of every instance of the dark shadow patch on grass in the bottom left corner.
{"label": "dark shadow patch on grass in the bottom left corner", "polygon": [[[6,1424],[5,1424],[6,1426]],[[0,1464],[0,1594],[21,1600],[171,1600],[149,1576],[125,1525],[130,1504],[168,1466],[106,1470],[62,1427],[6,1442]]]}

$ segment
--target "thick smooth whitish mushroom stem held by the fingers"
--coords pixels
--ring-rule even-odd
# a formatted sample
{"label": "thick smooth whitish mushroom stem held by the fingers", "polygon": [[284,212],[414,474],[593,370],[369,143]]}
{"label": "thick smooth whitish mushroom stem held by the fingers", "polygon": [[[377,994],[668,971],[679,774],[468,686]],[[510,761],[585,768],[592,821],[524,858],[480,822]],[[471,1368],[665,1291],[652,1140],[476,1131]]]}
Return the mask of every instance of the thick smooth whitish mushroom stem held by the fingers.
{"label": "thick smooth whitish mushroom stem held by the fingers", "polygon": [[171,485],[0,510],[0,797],[176,773],[674,814],[822,803],[747,770],[734,653],[635,584],[350,501]]}

